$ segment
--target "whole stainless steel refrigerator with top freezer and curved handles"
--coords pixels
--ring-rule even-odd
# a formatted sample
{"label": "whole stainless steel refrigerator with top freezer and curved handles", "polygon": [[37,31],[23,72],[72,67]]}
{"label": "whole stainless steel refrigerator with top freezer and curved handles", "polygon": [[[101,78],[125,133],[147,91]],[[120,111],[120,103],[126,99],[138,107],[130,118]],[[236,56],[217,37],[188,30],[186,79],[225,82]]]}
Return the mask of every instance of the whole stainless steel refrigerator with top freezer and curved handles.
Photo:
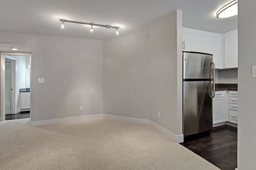
{"label": "whole stainless steel refrigerator with top freezer and curved handles", "polygon": [[212,54],[183,51],[183,135],[212,129],[215,64]]}

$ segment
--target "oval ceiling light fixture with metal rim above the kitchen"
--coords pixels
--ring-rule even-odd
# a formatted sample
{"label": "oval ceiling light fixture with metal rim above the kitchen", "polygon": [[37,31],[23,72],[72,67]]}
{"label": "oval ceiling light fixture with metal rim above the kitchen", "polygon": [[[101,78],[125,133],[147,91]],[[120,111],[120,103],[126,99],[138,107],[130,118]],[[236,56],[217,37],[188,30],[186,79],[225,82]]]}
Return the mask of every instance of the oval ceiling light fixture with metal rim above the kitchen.
{"label": "oval ceiling light fixture with metal rim above the kitchen", "polygon": [[227,18],[232,17],[238,14],[238,6],[237,6],[238,0],[233,0],[227,5],[223,6],[218,10],[216,13],[217,18]]}

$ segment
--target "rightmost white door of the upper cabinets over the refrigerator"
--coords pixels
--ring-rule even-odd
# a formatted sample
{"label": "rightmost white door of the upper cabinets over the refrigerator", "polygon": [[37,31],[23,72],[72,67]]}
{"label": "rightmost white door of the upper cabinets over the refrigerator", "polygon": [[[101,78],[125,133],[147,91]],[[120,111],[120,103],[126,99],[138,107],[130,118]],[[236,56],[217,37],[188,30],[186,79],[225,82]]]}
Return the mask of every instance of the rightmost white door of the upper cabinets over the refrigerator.
{"label": "rightmost white door of the upper cabinets over the refrigerator", "polygon": [[215,63],[215,68],[221,68],[221,37],[208,36],[208,53],[213,54],[213,62]]}

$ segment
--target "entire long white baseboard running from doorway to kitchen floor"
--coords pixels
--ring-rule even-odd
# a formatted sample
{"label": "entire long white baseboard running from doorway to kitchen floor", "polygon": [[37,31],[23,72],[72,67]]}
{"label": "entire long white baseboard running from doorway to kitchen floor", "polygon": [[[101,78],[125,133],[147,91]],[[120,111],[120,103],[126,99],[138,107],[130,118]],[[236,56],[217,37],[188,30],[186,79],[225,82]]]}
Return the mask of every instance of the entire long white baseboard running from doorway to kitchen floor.
{"label": "entire long white baseboard running from doorway to kitchen floor", "polygon": [[112,120],[121,120],[121,121],[126,121],[126,122],[150,125],[150,126],[154,127],[155,129],[157,129],[158,131],[160,131],[161,133],[168,136],[173,141],[175,141],[177,143],[183,142],[183,134],[175,135],[171,131],[152,122],[151,120],[138,119],[138,118],[132,118],[132,117],[125,117],[125,116],[115,116],[115,115],[110,115],[110,114],[95,114],[95,115],[88,115],[88,116],[67,117],[67,118],[61,118],[61,119],[31,121],[30,126],[49,125],[49,124],[54,124],[54,123],[75,122],[75,121],[92,120],[92,119],[112,119]]}

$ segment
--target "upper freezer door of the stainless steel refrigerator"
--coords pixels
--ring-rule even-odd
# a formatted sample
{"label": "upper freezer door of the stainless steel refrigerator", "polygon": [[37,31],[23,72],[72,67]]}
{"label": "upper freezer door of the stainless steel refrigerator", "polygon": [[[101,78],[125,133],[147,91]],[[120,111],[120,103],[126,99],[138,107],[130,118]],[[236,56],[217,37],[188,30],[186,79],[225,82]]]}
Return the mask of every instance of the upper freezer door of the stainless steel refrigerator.
{"label": "upper freezer door of the stainless steel refrigerator", "polygon": [[183,52],[183,79],[212,79],[209,77],[209,64],[212,55]]}

